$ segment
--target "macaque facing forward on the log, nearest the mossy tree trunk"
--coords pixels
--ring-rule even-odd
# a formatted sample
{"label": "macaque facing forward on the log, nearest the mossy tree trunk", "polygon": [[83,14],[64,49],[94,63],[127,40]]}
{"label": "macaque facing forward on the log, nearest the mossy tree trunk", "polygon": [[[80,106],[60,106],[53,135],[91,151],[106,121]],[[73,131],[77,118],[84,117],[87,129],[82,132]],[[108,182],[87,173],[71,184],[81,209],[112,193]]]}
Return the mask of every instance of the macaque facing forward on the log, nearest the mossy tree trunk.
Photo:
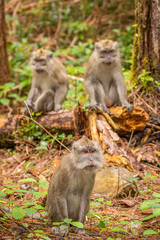
{"label": "macaque facing forward on the log, nearest the mossy tree trunk", "polygon": [[108,107],[122,105],[127,111],[133,110],[127,101],[117,42],[106,39],[95,43],[84,78],[91,109],[100,107],[109,113]]}

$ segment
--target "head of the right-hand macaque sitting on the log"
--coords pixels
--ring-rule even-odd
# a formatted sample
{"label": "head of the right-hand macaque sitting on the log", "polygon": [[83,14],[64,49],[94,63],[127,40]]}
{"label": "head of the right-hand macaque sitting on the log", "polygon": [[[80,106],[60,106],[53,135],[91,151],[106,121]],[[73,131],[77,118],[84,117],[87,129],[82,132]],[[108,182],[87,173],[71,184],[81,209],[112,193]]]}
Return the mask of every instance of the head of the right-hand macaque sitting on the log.
{"label": "head of the right-hand macaque sitting on the log", "polygon": [[111,64],[119,59],[118,43],[105,39],[95,42],[95,51],[101,63]]}

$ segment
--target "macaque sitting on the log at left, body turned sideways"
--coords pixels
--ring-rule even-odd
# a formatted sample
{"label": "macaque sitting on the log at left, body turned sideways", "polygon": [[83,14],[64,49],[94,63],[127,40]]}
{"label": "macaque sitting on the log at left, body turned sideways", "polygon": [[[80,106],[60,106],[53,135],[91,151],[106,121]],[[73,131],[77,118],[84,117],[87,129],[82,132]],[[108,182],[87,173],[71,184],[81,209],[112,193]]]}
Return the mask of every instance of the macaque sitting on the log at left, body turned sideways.
{"label": "macaque sitting on the log at left, body turned sideways", "polygon": [[33,79],[26,104],[36,112],[60,110],[68,90],[65,67],[44,49],[33,52],[30,63]]}

